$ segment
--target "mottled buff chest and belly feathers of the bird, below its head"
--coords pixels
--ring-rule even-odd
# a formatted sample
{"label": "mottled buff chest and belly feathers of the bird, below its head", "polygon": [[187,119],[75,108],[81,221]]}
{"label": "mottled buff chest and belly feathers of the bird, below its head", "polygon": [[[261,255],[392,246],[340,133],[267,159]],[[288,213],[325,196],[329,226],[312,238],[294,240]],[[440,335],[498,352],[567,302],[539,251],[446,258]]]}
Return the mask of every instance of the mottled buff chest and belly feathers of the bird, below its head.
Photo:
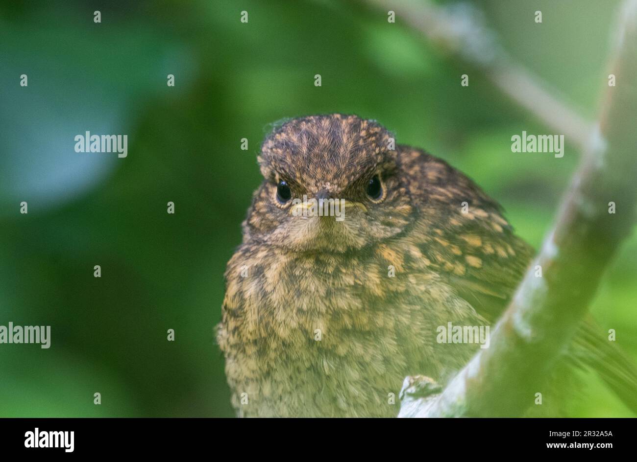
{"label": "mottled buff chest and belly feathers of the bird, below its head", "polygon": [[356,256],[248,250],[229,263],[219,337],[234,388],[305,403],[323,389],[326,409],[362,395],[376,406],[398,393],[404,350],[435,339],[439,322],[422,321],[427,307],[445,303],[433,274],[389,248]]}

